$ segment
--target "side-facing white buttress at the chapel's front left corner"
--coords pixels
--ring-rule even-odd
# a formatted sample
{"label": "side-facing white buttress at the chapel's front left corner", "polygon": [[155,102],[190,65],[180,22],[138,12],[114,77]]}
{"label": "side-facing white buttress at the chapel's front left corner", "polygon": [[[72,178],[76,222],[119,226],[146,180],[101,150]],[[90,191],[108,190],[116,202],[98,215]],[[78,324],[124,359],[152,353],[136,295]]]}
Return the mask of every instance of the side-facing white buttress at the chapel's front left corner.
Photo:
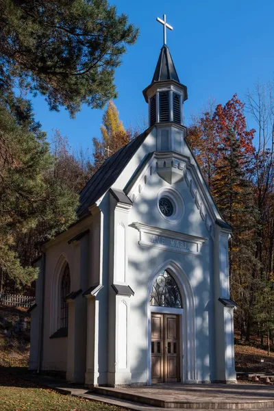
{"label": "side-facing white buttress at the chapel's front left corner", "polygon": [[108,201],[100,208],[92,206],[90,233],[90,288],[83,295],[88,304],[86,321],[86,375],[85,385],[92,388],[107,384],[108,369],[108,247],[110,242]]}

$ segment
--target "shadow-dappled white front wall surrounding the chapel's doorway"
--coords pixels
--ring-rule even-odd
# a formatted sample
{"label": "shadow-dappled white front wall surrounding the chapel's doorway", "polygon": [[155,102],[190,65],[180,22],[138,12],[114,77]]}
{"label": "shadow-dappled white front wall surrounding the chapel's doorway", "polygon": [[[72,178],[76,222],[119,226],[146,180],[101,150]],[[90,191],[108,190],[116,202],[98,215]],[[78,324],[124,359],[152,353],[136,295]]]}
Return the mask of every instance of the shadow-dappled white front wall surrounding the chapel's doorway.
{"label": "shadow-dappled white front wall surrounding the chapel's doorway", "polygon": [[[134,158],[127,164],[119,179],[116,180],[114,188],[123,190],[129,176],[134,173],[145,155],[155,149],[156,130],[154,128],[138,149]],[[186,358],[184,358],[185,365],[181,373],[182,381],[212,381],[216,379],[216,368],[219,367],[218,358],[216,357],[216,345],[219,342],[215,333],[215,312],[220,309],[216,307],[216,299],[220,295],[218,294],[219,290],[216,290],[216,284],[214,284],[215,269],[213,261],[216,247],[218,247],[215,245],[214,220],[221,219],[221,216],[216,210],[211,197],[206,195],[206,185],[185,142],[182,147],[182,155],[186,162],[184,179],[173,184],[173,188],[179,192],[184,202],[184,216],[180,221],[170,223],[157,212],[158,192],[171,186],[159,177],[153,166],[147,169],[145,177],[144,175],[137,177],[139,179],[137,195],[131,197],[134,203],[128,217],[127,284],[135,292],[134,297],[130,297],[131,308],[128,319],[128,351],[130,353],[129,363],[133,383],[150,383],[148,284],[151,281],[151,275],[155,273],[155,267],[167,266],[168,262],[173,262],[182,269],[181,272],[184,272],[185,277],[183,278],[178,271],[176,274],[177,282],[182,283],[186,281],[187,277],[195,296],[195,341],[193,341],[193,345],[196,345],[196,356],[193,356],[193,358],[195,357],[195,364],[192,364],[190,370],[189,366],[186,366]],[[136,229],[135,223],[158,227],[162,229],[162,233],[164,233],[164,230],[172,230],[188,236],[199,236],[204,239],[201,253],[199,256],[193,256],[175,249],[171,250],[171,247],[166,247],[166,249],[153,247],[152,245],[151,247],[140,247],[139,242],[142,241],[140,241],[140,232]],[[164,236],[164,234],[162,235]],[[147,238],[149,237],[147,236]],[[227,275],[225,281],[227,282]],[[223,310],[223,308],[221,309]],[[183,332],[184,327],[183,323]],[[182,336],[182,343],[184,343],[184,338]],[[223,338],[227,338],[225,329],[223,329]],[[185,348],[182,347],[182,355],[186,352],[184,350]],[[233,356],[232,350],[230,350],[230,354]]]}

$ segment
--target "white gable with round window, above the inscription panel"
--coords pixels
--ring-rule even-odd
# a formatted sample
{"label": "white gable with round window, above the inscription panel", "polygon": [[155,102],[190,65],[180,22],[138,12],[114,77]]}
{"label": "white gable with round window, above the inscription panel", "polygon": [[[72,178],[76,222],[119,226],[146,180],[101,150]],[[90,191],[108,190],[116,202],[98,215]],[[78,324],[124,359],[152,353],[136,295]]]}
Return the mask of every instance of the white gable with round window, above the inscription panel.
{"label": "white gable with round window, above the inscription panel", "polygon": [[[197,236],[213,236],[214,214],[199,194],[190,164],[183,162],[181,155],[166,153],[165,157],[164,153],[155,151],[124,190],[133,203],[133,221]],[[161,212],[162,199],[171,203],[170,215]]]}

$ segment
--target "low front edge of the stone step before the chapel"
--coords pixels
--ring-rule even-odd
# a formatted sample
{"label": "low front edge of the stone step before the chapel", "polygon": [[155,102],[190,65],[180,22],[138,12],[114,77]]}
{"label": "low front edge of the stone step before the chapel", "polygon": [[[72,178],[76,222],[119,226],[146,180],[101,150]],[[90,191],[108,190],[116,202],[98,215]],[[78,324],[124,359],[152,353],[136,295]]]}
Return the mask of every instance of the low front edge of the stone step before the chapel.
{"label": "low front edge of the stone step before the chapel", "polygon": [[[221,387],[220,387],[221,388]],[[164,399],[160,395],[142,394],[132,392],[134,390],[109,388],[109,387],[95,387],[93,392],[105,397],[119,398],[121,400],[132,401],[134,403],[142,403],[147,406],[157,408],[183,408],[183,409],[196,409],[196,410],[262,410],[274,408],[274,395],[271,399],[250,399],[243,395],[241,398],[218,398],[218,397],[205,397],[195,395],[193,391],[193,399],[179,399],[179,395],[175,395],[174,399]],[[177,398],[176,398],[177,397]],[[197,398],[195,398],[197,397]]]}

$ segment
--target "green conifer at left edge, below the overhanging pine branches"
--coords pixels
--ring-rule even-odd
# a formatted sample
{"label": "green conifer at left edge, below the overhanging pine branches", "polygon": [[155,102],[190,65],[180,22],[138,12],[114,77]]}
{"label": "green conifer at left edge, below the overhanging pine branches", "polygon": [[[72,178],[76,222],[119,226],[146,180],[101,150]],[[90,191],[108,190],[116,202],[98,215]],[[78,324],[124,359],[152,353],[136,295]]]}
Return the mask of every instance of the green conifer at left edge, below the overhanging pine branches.
{"label": "green conifer at left edge, below the overhanging pine branches", "polygon": [[75,220],[78,196],[53,178],[54,158],[28,101],[0,103],[0,274],[16,286],[36,269],[23,264],[18,243],[40,227],[52,238]]}

